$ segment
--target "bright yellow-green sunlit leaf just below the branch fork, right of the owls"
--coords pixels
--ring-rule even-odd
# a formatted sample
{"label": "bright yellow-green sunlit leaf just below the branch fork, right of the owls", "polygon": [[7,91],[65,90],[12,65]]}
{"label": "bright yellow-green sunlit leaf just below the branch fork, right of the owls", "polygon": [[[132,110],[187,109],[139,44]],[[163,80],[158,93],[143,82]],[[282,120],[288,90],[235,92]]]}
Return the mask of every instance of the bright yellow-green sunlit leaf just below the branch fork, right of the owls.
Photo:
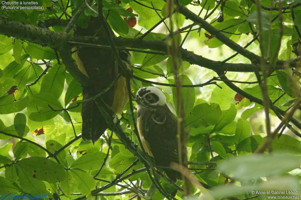
{"label": "bright yellow-green sunlit leaf just below the branch fork, right of the owls", "polygon": [[216,103],[219,105],[221,110],[226,110],[233,103],[235,92],[224,82],[220,83],[219,86],[221,86],[222,89],[220,89],[218,86],[213,89],[210,103]]}

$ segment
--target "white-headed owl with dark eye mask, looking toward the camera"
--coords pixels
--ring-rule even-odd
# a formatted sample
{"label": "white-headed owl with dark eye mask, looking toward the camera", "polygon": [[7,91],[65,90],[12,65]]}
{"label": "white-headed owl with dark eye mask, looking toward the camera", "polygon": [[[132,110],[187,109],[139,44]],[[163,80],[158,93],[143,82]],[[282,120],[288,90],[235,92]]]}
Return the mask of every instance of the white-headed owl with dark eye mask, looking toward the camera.
{"label": "white-headed owl with dark eye mask, looking toward the camera", "polygon": [[[177,120],[166,105],[166,97],[157,87],[140,88],[137,98],[138,132],[148,155],[154,158],[155,164],[170,167],[178,160]],[[166,175],[173,180],[180,174],[172,169],[163,168]]]}

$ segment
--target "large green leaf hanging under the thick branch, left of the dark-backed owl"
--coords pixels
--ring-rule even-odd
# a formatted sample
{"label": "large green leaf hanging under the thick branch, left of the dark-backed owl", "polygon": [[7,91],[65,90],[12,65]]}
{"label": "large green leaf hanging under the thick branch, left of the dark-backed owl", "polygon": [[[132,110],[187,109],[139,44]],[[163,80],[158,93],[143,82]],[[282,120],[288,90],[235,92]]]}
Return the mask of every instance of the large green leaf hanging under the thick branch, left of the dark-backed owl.
{"label": "large green leaf hanging under the thick branch, left of the dark-backed owl", "polygon": [[48,70],[41,84],[41,92],[50,93],[59,98],[64,89],[66,70],[64,65],[55,64]]}

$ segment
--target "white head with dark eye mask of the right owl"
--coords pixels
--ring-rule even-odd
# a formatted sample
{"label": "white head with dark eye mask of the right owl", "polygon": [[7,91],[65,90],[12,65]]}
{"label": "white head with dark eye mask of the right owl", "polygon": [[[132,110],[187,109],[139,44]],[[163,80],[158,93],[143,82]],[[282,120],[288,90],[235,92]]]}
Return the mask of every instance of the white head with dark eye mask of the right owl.
{"label": "white head with dark eye mask of the right owl", "polygon": [[142,87],[137,91],[136,98],[141,104],[156,106],[163,106],[166,104],[166,96],[163,92],[154,86]]}

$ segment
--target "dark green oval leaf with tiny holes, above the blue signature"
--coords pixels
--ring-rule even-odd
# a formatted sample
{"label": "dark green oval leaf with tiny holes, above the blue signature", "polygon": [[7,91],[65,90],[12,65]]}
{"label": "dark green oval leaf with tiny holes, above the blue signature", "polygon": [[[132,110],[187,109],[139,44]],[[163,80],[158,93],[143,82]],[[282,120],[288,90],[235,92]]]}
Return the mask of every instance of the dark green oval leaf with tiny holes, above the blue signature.
{"label": "dark green oval leaf with tiny holes, above the blue signature", "polygon": [[42,157],[30,157],[20,160],[17,164],[30,176],[48,183],[56,183],[65,179],[65,169],[61,164]]}

